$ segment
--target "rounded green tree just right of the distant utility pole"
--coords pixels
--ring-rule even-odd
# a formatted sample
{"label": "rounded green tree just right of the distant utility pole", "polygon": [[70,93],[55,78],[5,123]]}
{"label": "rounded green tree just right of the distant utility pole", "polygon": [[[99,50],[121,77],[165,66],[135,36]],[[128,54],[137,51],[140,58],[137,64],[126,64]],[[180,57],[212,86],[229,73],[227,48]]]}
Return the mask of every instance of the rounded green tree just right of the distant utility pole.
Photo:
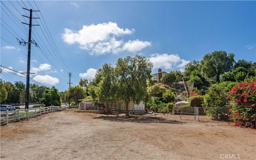
{"label": "rounded green tree just right of the distant utility pole", "polygon": [[85,98],[85,90],[83,89],[83,87],[77,85],[77,86],[70,86],[67,92],[67,100],[73,101],[76,104],[78,104],[78,100],[79,99],[84,99]]}

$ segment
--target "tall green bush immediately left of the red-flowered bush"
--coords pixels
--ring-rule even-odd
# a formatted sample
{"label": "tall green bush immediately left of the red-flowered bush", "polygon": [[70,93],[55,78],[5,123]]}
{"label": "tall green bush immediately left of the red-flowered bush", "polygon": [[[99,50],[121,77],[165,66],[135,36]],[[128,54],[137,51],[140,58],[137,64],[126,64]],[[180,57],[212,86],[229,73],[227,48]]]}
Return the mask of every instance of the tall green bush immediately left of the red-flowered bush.
{"label": "tall green bush immediately left of the red-flowered bush", "polygon": [[227,117],[227,94],[219,84],[213,84],[204,98],[204,111],[215,120],[226,120]]}

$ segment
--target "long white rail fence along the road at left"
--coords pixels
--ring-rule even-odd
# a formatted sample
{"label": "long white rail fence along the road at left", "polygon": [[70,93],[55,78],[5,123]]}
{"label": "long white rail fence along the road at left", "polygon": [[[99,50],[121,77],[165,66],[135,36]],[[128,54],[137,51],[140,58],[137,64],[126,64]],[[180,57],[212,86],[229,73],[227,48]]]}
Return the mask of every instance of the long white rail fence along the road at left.
{"label": "long white rail fence along the road at left", "polygon": [[67,107],[62,106],[50,106],[50,107],[38,107],[29,109],[17,109],[17,110],[6,110],[0,112],[1,125],[8,123],[18,122],[23,119],[29,119],[37,116],[41,116],[54,111],[61,111]]}

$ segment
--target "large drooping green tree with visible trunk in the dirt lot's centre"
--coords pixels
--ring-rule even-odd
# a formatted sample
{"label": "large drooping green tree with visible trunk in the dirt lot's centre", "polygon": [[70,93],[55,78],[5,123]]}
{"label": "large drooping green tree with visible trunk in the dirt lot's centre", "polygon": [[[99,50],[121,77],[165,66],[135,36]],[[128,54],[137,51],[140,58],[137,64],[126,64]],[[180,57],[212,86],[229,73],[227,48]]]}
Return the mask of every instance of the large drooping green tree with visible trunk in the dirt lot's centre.
{"label": "large drooping green tree with visible trunk in the dirt lot's centre", "polygon": [[116,62],[117,99],[125,102],[126,116],[129,116],[130,101],[139,103],[147,97],[147,80],[151,78],[153,64],[146,57],[135,55],[119,58]]}

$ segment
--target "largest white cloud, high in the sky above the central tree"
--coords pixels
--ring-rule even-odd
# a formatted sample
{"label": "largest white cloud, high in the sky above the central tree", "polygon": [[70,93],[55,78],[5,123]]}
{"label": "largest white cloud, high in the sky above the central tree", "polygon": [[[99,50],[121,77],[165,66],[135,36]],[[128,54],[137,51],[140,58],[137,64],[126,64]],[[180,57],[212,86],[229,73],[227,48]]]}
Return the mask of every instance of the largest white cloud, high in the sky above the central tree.
{"label": "largest white cloud, high in the sky above the central tree", "polygon": [[129,40],[124,42],[118,37],[130,35],[135,29],[123,29],[117,23],[99,23],[98,25],[83,26],[81,30],[64,29],[62,39],[68,44],[79,44],[82,50],[87,50],[90,54],[119,53],[123,51],[137,52],[150,46],[147,41]]}

